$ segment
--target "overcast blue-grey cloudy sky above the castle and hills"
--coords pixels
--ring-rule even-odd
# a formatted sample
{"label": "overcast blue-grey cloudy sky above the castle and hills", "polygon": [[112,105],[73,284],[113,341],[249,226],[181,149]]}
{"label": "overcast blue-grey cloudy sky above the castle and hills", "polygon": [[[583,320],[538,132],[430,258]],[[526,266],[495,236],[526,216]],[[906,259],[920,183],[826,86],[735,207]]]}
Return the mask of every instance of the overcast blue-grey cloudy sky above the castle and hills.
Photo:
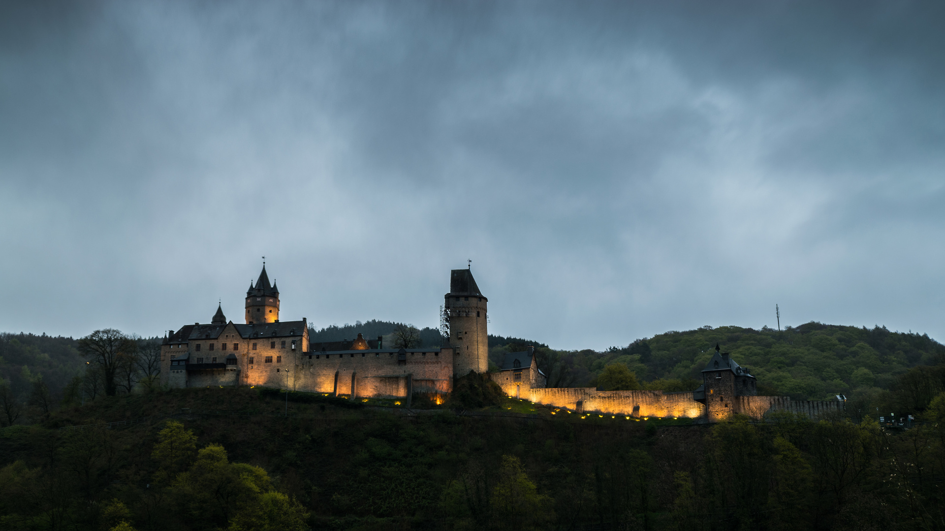
{"label": "overcast blue-grey cloudy sky above the castle and hills", "polygon": [[945,339],[945,5],[0,7],[0,331],[284,320],[606,349],[810,320]]}

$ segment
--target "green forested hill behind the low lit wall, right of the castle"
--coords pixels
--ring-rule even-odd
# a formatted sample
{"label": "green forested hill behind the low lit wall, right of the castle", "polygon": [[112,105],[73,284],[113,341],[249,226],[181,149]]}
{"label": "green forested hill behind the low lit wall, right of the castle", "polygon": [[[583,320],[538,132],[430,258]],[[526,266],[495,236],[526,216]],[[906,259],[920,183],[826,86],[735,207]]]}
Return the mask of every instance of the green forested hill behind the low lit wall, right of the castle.
{"label": "green forested hill behind the low lit wall, right of the castle", "polygon": [[[751,369],[762,394],[795,399],[830,399],[857,390],[875,393],[903,385],[903,378],[920,380],[931,368],[945,367],[945,346],[927,334],[818,322],[787,327],[782,332],[737,326],[667,332],[604,352],[539,351],[549,385],[595,385],[603,368],[620,363],[634,371],[642,385],[653,382],[654,388],[665,388],[674,385],[672,381],[701,380],[699,371],[705,368],[716,344],[730,352],[739,365]],[[507,349],[492,349],[490,358],[498,359],[503,351]],[[921,385],[935,387],[945,382]]]}

